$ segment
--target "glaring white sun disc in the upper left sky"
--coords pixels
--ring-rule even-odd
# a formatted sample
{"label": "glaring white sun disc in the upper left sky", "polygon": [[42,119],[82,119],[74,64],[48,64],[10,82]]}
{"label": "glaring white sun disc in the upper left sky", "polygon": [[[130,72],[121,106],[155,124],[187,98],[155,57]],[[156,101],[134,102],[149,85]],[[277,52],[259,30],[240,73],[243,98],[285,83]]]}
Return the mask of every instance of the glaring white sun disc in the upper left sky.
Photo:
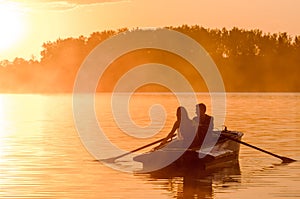
{"label": "glaring white sun disc in the upper left sky", "polygon": [[15,45],[24,34],[20,4],[0,1],[0,52]]}

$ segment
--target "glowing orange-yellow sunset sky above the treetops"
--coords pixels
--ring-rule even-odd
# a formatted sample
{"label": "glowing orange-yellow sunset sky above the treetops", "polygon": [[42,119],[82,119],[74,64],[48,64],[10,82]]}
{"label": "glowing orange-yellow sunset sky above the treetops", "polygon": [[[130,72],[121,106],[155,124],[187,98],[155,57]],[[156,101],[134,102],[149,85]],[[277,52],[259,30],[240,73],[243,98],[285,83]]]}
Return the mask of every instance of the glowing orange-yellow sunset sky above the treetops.
{"label": "glowing orange-yellow sunset sky above the treetops", "polygon": [[300,35],[299,0],[0,0],[0,60],[42,44],[119,28],[200,25]]}

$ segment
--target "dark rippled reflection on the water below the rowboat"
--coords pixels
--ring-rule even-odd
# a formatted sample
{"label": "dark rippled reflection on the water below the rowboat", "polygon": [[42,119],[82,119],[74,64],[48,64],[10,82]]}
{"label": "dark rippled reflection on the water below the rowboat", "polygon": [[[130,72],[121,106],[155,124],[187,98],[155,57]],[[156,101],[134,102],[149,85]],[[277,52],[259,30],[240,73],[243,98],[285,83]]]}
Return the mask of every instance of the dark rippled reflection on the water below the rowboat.
{"label": "dark rippled reflection on the water below the rowboat", "polygon": [[[239,162],[208,170],[159,171],[148,174],[149,181],[170,191],[175,198],[215,198],[215,192],[240,183]],[[163,183],[163,184],[161,184]]]}

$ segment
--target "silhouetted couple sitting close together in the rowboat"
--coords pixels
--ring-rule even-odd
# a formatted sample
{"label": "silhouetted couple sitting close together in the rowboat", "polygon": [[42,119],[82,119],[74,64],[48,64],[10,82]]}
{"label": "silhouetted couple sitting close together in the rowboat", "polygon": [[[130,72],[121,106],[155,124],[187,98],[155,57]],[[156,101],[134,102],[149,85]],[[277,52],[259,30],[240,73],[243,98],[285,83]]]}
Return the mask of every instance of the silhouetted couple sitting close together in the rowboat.
{"label": "silhouetted couple sitting close together in the rowboat", "polygon": [[[203,103],[196,105],[196,117],[191,120],[188,116],[187,110],[180,106],[177,108],[175,121],[171,132],[154,149],[164,147],[166,144],[172,148],[185,148],[185,149],[199,149],[207,135],[213,130],[213,117],[205,114],[206,106]],[[173,142],[168,141],[174,137],[175,132],[177,140]]]}

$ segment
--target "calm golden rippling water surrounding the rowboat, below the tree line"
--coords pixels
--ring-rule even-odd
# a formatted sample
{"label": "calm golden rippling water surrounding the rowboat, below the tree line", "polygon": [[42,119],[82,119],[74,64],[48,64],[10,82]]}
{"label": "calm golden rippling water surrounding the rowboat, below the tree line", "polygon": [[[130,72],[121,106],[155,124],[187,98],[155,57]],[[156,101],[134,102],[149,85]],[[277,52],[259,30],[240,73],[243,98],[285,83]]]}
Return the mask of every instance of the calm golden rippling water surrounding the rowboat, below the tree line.
{"label": "calm golden rippling water surrounding the rowboat, below the tree line", "polygon": [[[209,95],[197,97],[211,114]],[[151,129],[163,125],[161,131],[138,139],[124,134],[112,119],[109,94],[97,94],[95,99],[99,126],[115,146],[128,151],[164,137],[178,106],[173,95],[135,94],[129,110],[137,127],[149,124],[149,107],[154,103],[166,113],[165,123],[158,114],[152,121]],[[300,160],[299,93],[229,93],[226,99],[228,129],[243,132],[245,142]],[[192,118],[194,104],[187,108]],[[122,116],[118,122],[129,131],[132,128]],[[109,155],[110,149],[102,153]],[[141,165],[131,157],[116,164],[124,170],[139,169]],[[3,94],[0,198],[300,198],[300,162],[281,164],[277,158],[241,146],[239,167],[198,177],[121,172],[95,161],[84,147],[73,118],[72,95]]]}

